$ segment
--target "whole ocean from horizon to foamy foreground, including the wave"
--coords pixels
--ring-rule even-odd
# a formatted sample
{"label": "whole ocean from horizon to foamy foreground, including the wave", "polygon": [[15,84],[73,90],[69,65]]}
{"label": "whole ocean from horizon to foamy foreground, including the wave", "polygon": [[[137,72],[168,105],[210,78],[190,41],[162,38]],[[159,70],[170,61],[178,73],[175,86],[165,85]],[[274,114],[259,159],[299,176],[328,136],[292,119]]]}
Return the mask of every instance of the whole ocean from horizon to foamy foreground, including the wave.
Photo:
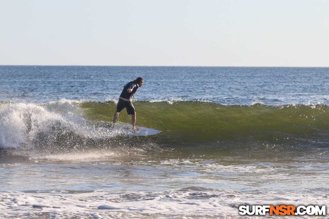
{"label": "whole ocean from horizon to foamy foreground, including the wave", "polygon": [[[99,127],[129,76],[144,78],[136,125],[161,133]],[[0,77],[0,218],[251,219],[272,215],[239,206],[329,204],[329,68],[0,66]],[[124,109],[117,122],[130,121]]]}

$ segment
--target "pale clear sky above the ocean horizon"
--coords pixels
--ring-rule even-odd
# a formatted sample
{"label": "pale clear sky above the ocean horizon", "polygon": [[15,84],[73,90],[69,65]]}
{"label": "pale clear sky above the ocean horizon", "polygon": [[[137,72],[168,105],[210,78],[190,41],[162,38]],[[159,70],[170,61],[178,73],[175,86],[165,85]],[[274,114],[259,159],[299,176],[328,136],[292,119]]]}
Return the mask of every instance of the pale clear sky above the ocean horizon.
{"label": "pale clear sky above the ocean horizon", "polygon": [[329,66],[328,0],[0,0],[0,65]]}

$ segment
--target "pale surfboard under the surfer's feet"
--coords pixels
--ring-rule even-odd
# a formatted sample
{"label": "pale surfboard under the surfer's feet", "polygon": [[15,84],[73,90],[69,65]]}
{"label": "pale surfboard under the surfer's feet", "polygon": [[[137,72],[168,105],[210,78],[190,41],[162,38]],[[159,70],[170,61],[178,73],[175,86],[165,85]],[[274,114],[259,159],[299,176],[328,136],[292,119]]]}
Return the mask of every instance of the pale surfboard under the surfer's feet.
{"label": "pale surfboard under the surfer's feet", "polygon": [[135,127],[139,128],[139,130],[133,130],[131,125],[120,124],[120,123],[102,122],[100,127],[104,127],[104,128],[119,132],[121,134],[129,135],[129,136],[148,136],[148,135],[158,134],[161,132],[156,129],[150,129],[150,128],[145,128],[145,127],[140,127],[140,126],[135,126]]}

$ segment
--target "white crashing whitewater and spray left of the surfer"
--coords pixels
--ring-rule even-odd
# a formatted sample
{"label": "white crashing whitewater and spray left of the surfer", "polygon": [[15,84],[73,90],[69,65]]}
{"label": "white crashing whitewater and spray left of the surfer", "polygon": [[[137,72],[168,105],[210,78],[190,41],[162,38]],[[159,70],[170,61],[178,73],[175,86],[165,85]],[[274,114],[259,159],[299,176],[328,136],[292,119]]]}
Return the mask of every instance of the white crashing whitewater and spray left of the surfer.
{"label": "white crashing whitewater and spray left of the surfer", "polygon": [[[26,158],[101,157],[153,147],[123,130],[100,127],[79,107],[79,101],[0,104],[0,148]],[[142,143],[141,143],[142,142]],[[115,149],[113,149],[115,148]],[[86,155],[87,154],[87,155]]]}

